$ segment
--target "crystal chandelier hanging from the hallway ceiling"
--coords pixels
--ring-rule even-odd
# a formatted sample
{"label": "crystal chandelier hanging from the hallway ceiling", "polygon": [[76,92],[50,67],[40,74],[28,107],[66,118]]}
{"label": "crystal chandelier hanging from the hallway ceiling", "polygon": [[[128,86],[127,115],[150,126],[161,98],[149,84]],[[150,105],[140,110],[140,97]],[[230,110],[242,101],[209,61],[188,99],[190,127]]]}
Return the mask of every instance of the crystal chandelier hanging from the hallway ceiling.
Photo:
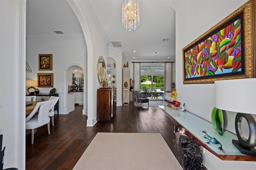
{"label": "crystal chandelier hanging from the hallway ceiling", "polygon": [[140,23],[140,10],[138,0],[124,0],[122,6],[122,25],[129,31],[135,30]]}

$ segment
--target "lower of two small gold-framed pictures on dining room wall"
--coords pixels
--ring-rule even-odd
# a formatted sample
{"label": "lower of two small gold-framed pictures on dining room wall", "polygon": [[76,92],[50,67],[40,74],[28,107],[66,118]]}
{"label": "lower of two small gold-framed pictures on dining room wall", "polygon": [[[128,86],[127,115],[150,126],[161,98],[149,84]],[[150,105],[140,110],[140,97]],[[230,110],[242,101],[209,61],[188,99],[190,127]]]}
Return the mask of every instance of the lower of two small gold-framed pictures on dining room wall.
{"label": "lower of two small gold-framed pictures on dining room wall", "polygon": [[38,87],[53,87],[53,73],[38,73]]}

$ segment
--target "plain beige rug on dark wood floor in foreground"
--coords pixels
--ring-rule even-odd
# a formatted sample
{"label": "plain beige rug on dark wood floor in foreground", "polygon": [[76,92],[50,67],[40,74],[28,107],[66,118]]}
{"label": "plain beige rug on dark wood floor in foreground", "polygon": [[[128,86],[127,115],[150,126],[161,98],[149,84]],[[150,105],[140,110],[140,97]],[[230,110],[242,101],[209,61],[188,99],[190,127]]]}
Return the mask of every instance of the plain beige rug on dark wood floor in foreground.
{"label": "plain beige rug on dark wood floor in foreground", "polygon": [[73,170],[182,170],[160,133],[97,133]]}

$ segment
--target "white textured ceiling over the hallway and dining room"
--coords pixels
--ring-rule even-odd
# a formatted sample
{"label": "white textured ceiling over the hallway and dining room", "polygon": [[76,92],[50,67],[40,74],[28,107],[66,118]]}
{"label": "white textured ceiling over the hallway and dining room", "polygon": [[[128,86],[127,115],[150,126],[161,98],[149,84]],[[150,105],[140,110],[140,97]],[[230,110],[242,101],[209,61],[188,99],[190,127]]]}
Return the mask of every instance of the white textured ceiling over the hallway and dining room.
{"label": "white textured ceiling over the hallway and dining room", "polygon": [[[89,1],[108,37],[108,46],[113,47],[111,41],[120,41],[122,47],[113,48],[124,51],[126,59],[175,60],[172,0],[139,0],[140,25],[132,31],[122,26],[123,0]],[[82,35],[80,24],[66,0],[27,0],[27,36],[56,35],[54,31]]]}

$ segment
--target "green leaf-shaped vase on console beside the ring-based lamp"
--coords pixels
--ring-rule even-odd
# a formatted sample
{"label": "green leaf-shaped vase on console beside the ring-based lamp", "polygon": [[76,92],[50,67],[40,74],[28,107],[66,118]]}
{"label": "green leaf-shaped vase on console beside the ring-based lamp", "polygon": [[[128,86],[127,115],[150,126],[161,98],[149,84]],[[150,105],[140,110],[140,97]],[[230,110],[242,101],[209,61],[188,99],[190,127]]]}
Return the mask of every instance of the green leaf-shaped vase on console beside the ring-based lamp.
{"label": "green leaf-shaped vase on console beside the ring-based lamp", "polygon": [[212,125],[215,131],[221,136],[224,134],[224,124],[226,123],[224,123],[224,115],[222,109],[214,107],[212,109]]}

